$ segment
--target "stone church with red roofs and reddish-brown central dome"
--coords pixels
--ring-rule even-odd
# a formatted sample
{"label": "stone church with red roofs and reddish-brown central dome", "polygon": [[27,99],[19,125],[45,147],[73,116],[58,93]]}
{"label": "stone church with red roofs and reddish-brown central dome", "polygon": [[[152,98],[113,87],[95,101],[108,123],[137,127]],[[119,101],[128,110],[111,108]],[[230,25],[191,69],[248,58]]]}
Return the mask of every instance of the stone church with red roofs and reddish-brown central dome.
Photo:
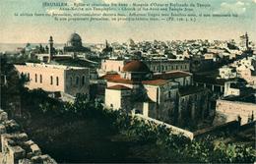
{"label": "stone church with red roofs and reddish-brown central dome", "polygon": [[[106,81],[105,105],[118,110],[128,112],[136,110],[145,117],[151,117],[160,121],[176,124],[180,115],[181,101],[189,103],[191,99],[196,100],[194,105],[194,116],[200,115],[208,109],[208,96],[205,88],[193,90],[185,98],[179,89],[192,87],[192,75],[190,73],[175,71],[163,74],[153,74],[148,66],[141,61],[131,61],[124,65],[119,74],[107,74],[101,77]],[[194,87],[194,86],[193,86]],[[195,99],[194,97],[200,97]],[[204,97],[204,102],[202,98]],[[183,100],[184,99],[184,100]],[[189,102],[183,102],[189,101]],[[205,105],[199,105],[199,103]],[[188,106],[182,109],[189,112]],[[198,114],[199,112],[199,114]]]}

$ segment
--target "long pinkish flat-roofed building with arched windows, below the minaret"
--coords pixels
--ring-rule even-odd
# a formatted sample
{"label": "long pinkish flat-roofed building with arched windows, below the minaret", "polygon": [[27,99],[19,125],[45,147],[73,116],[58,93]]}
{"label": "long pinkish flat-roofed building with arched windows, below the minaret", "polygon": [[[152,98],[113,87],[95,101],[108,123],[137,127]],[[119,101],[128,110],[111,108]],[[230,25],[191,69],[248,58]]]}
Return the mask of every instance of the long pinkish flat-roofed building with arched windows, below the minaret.
{"label": "long pinkish flat-roofed building with arched windows, below the minaret", "polygon": [[77,93],[89,95],[89,69],[61,65],[26,63],[15,65],[21,75],[25,75],[30,89],[42,88],[48,92],[61,92],[75,96]]}

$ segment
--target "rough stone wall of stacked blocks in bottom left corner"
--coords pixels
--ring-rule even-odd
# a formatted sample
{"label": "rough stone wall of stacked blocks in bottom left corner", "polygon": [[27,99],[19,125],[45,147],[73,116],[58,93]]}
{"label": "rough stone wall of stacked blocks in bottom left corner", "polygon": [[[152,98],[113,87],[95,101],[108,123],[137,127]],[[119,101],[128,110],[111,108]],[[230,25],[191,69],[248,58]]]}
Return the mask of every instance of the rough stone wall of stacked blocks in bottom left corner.
{"label": "rough stone wall of stacked blocks in bottom left corner", "polygon": [[0,109],[0,164],[56,164],[27,134],[21,131],[14,120],[8,120],[8,114]]}

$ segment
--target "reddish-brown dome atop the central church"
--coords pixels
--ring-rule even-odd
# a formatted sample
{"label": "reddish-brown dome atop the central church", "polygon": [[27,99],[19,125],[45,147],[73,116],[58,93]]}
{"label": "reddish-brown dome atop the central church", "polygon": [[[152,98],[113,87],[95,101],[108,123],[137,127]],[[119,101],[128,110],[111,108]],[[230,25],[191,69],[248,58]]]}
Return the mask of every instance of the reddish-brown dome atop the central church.
{"label": "reddish-brown dome atop the central church", "polygon": [[131,61],[129,63],[127,63],[126,65],[124,65],[123,67],[123,71],[125,72],[150,72],[150,69],[148,68],[148,66],[139,61],[139,60],[134,60]]}

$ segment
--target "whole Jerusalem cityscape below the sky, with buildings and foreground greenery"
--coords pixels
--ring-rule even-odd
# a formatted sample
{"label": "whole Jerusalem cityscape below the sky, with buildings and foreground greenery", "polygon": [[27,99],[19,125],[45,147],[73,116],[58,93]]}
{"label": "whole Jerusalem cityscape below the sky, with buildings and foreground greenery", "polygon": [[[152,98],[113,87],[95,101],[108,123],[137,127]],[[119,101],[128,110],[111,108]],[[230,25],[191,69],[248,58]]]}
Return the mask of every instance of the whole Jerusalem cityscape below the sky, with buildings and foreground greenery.
{"label": "whole Jerusalem cityscape below the sky, with buildings and foreground greenery", "polygon": [[255,162],[250,33],[85,40],[0,53],[0,163]]}

